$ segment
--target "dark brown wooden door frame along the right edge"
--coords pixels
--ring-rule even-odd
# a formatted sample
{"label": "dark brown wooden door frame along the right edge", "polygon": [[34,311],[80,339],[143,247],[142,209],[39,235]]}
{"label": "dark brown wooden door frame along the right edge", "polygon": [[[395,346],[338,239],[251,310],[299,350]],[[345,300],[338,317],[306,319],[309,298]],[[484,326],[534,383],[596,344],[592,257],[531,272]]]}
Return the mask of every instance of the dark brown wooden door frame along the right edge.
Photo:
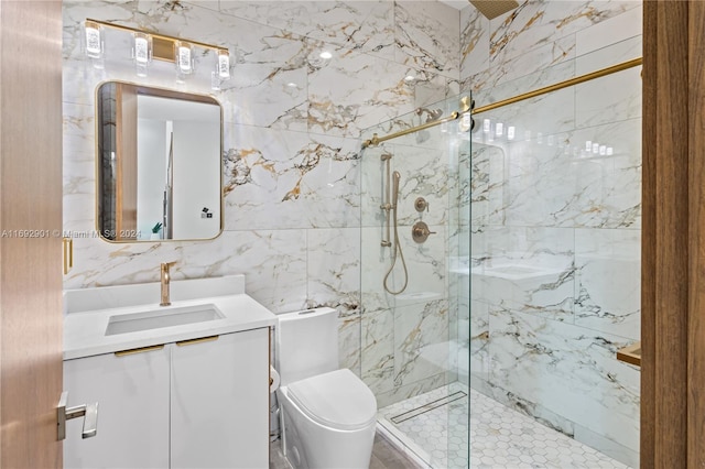
{"label": "dark brown wooden door frame along the right edge", "polygon": [[644,1],[641,467],[705,467],[705,2]]}

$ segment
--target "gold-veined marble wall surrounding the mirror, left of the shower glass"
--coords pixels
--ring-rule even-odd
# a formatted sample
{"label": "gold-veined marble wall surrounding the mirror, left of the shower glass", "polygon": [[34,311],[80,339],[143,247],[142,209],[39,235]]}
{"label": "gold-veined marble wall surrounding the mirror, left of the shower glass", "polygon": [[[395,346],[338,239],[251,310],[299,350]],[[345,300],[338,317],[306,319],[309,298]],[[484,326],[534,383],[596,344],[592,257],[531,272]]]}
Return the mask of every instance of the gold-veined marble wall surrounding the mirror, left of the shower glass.
{"label": "gold-veined marble wall surrounding the mirror, left of the shower glass", "polygon": [[[158,281],[165,261],[176,261],[176,280],[245,273],[248,293],[275,313],[338,308],[341,364],[361,373],[360,131],[458,92],[459,12],[415,1],[65,0],[63,15],[64,227],[76,233],[65,287]],[[203,77],[177,86],[158,62],[138,78],[129,37],[116,37],[105,68],[94,68],[82,53],[86,18],[229,47],[232,78],[214,95],[225,118],[220,237],[116,244],[91,236],[96,86],[212,91]],[[435,320],[446,309],[441,301],[417,315]],[[419,373],[409,369],[402,384]]]}

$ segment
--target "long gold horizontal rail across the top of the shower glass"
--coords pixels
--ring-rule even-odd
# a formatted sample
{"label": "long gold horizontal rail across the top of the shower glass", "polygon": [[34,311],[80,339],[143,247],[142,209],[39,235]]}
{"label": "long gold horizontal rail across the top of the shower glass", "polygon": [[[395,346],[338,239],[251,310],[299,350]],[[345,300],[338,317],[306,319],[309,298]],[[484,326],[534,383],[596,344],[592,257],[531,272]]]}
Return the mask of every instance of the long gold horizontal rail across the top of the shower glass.
{"label": "long gold horizontal rail across the top of the shower glass", "polygon": [[[595,78],[600,78],[606,75],[611,75],[617,72],[626,70],[628,68],[632,68],[639,66],[643,63],[643,57],[633,58],[631,61],[622,62],[620,64],[616,64],[606,68],[601,68],[599,70],[590,72],[589,74],[581,75],[575,78],[570,78],[564,81],[558,81],[553,85],[545,86],[543,88],[534,89],[533,91],[524,92],[522,95],[517,95],[511,98],[502,99],[501,101],[492,102],[491,105],[480,106],[479,108],[470,109],[470,112],[476,114],[485,111],[489,111],[492,109],[501,108],[503,106],[513,105],[514,102],[523,101],[524,99],[535,98],[536,96],[545,95],[549,92],[557,91],[558,89],[567,88],[570,86],[579,85],[585,81],[593,80]],[[462,103],[465,105],[465,102]],[[463,112],[466,112],[468,109],[463,109]],[[451,116],[444,119],[438,119],[436,121],[426,122],[421,126],[416,126],[410,129],[402,130],[400,132],[390,133],[389,135],[378,137],[377,133],[372,134],[372,138],[362,142],[362,148],[366,149],[368,146],[376,146],[382,142],[386,142],[391,139],[395,139],[398,137],[408,135],[413,132],[417,132],[420,130],[429,129],[431,127],[438,126],[441,123],[449,122],[452,120],[456,120],[460,117],[460,112],[455,111]]]}

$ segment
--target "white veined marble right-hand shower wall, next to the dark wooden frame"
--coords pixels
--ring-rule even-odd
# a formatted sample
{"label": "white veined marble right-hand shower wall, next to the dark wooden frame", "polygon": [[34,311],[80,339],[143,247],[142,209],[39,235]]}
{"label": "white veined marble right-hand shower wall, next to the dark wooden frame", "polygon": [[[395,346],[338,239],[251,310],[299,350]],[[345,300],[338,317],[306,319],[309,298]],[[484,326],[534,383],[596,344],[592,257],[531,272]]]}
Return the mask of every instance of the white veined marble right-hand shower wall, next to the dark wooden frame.
{"label": "white veined marble right-hand shower wall, next to the dark wooden frame", "polygon": [[[477,106],[641,56],[640,2],[462,19]],[[640,334],[639,72],[477,114],[470,163],[473,386],[632,467],[639,370],[616,351]]]}

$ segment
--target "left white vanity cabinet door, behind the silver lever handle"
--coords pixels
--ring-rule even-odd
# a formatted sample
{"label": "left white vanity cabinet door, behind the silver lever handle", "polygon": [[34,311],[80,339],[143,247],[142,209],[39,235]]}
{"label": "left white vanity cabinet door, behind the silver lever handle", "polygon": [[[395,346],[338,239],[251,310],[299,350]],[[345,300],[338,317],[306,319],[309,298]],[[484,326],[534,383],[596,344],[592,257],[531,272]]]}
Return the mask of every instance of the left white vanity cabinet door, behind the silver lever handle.
{"label": "left white vanity cabinet door, behind the silver lever handle", "polygon": [[64,361],[68,405],[98,402],[98,433],[82,439],[83,418],[66,423],[64,467],[169,467],[170,347]]}

